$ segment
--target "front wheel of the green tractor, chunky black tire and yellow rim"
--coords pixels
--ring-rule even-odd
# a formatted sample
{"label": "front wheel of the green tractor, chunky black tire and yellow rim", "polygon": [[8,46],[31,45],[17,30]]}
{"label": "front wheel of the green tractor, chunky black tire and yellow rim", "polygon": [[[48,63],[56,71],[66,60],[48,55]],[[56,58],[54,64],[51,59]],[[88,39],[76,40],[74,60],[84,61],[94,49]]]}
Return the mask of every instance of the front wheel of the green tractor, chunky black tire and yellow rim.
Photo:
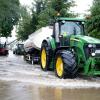
{"label": "front wheel of the green tractor, chunky black tire and yellow rim", "polygon": [[[59,67],[62,67],[62,68],[59,68]],[[60,69],[61,69],[61,72],[59,74]],[[56,73],[56,76],[59,78],[75,78],[76,77],[77,75],[76,61],[75,61],[74,55],[70,51],[62,50],[56,53],[55,73]]]}

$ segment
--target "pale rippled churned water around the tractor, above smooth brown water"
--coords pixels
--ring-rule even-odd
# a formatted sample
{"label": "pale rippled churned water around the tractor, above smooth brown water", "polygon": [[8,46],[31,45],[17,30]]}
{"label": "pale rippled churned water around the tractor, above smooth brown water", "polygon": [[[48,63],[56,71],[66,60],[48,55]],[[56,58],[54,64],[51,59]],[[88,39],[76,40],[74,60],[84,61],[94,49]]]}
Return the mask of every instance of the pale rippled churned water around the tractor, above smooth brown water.
{"label": "pale rippled churned water around the tractor, above smooth brown water", "polygon": [[[23,61],[22,56],[15,56],[10,51],[9,56],[0,59],[0,80],[17,81],[64,88],[100,88],[100,78],[97,80],[76,78],[58,79],[54,72],[43,72],[38,65],[30,65]],[[3,60],[4,59],[4,60]]]}

